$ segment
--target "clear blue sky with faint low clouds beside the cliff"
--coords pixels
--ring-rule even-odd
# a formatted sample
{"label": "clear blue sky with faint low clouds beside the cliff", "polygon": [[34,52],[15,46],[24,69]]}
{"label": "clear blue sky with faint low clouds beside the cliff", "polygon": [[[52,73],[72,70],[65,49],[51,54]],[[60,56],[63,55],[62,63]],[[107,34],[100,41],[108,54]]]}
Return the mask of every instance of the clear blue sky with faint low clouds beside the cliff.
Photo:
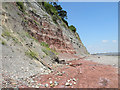
{"label": "clear blue sky with faint low clouds beside the cliff", "polygon": [[118,51],[117,2],[59,2],[88,52]]}

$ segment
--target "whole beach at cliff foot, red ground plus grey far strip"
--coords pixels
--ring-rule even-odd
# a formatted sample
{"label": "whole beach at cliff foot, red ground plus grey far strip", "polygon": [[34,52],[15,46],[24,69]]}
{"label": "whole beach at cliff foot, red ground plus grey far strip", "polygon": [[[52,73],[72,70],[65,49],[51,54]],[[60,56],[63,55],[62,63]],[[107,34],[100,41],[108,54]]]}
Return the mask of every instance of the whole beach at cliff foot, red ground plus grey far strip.
{"label": "whole beach at cliff foot, red ground plus grey far strip", "polygon": [[49,74],[41,75],[39,73],[16,81],[16,84],[6,85],[5,82],[8,82],[6,81],[8,79],[5,77],[3,86],[17,86],[19,88],[118,88],[117,60],[117,57],[114,56],[78,57],[76,60],[67,61],[67,64],[54,66],[55,69]]}

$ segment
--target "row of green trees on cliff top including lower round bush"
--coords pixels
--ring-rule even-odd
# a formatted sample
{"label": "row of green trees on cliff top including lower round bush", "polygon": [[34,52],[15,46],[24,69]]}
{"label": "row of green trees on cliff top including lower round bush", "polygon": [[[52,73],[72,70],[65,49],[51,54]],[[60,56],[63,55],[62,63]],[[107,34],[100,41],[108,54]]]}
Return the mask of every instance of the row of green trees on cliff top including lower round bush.
{"label": "row of green trees on cliff top including lower round bush", "polygon": [[[57,18],[58,16],[61,17],[62,21],[68,26],[68,22],[66,21],[67,19],[67,12],[63,10],[63,8],[58,5],[56,2],[42,2],[43,6],[45,7],[47,13],[52,15],[53,21],[57,23]],[[73,31],[74,33],[76,32],[76,28],[73,25],[68,26],[68,28]]]}

